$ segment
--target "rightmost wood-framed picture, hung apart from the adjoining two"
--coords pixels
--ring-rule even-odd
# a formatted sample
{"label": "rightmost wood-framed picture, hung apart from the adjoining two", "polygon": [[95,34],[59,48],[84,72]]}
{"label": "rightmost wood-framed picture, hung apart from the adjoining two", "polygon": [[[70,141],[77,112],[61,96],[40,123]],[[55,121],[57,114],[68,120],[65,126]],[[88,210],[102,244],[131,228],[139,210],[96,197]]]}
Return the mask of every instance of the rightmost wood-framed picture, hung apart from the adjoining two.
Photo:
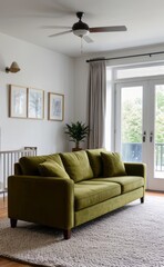
{"label": "rightmost wood-framed picture, hung apart from the adjoining two", "polygon": [[62,121],[64,119],[64,95],[49,92],[48,119]]}

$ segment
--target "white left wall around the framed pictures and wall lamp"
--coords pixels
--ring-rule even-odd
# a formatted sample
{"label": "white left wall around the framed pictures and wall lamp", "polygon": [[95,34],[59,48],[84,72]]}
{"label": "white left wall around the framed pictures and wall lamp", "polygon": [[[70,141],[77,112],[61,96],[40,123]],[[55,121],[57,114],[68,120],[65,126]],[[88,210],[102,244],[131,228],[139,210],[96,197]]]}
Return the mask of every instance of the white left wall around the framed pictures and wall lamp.
{"label": "white left wall around the framed pictures and wall lamp", "polygon": [[[18,73],[6,73],[17,61]],[[9,118],[9,85],[44,90],[44,119]],[[48,91],[64,95],[64,121],[48,120]],[[64,125],[74,120],[74,59],[0,33],[0,149],[37,146],[38,154],[69,149]]]}

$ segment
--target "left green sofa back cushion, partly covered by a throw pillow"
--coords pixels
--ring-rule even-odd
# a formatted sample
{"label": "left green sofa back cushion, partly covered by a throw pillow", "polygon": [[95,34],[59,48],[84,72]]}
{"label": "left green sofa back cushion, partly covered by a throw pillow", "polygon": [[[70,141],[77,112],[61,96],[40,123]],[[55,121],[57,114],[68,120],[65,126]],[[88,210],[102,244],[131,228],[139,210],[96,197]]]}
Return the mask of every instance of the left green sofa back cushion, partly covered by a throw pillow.
{"label": "left green sofa back cushion, partly covered by a throw pillow", "polygon": [[54,160],[57,164],[59,164],[61,167],[63,167],[63,164],[62,164],[62,160],[61,160],[59,154],[52,154],[52,155],[45,155],[45,156],[22,157],[19,159],[22,175],[40,176],[38,166],[40,164],[44,162],[45,160]]}

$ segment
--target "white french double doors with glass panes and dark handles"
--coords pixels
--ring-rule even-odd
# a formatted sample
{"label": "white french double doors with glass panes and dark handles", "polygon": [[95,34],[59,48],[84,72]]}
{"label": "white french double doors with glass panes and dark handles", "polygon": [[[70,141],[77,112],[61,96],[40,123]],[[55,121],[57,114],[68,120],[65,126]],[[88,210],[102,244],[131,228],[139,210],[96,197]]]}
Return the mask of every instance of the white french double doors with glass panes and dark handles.
{"label": "white french double doors with glass panes and dark handles", "polygon": [[164,80],[116,85],[115,147],[145,162],[147,189],[164,190]]}

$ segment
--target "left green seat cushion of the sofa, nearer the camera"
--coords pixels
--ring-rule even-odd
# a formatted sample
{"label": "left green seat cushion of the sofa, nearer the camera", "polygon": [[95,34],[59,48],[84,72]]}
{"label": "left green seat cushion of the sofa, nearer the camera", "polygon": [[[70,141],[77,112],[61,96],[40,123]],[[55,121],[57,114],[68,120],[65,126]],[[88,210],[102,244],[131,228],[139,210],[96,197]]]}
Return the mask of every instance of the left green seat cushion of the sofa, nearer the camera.
{"label": "left green seat cushion of the sofa, nearer the camera", "polygon": [[75,211],[102,202],[121,194],[121,186],[116,182],[81,181],[74,184]]}

